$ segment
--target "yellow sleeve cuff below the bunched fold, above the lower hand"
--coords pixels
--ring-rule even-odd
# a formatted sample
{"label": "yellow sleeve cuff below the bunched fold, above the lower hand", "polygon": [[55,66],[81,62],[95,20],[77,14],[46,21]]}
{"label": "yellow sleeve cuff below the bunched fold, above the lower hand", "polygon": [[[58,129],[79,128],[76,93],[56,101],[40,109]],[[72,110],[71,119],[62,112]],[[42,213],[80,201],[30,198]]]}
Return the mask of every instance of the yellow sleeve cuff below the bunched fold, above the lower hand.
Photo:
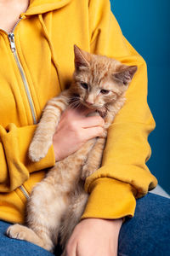
{"label": "yellow sleeve cuff below the bunched fold, above the lower hand", "polygon": [[128,183],[108,177],[94,180],[88,188],[90,193],[83,218],[122,218],[134,215],[136,189]]}

